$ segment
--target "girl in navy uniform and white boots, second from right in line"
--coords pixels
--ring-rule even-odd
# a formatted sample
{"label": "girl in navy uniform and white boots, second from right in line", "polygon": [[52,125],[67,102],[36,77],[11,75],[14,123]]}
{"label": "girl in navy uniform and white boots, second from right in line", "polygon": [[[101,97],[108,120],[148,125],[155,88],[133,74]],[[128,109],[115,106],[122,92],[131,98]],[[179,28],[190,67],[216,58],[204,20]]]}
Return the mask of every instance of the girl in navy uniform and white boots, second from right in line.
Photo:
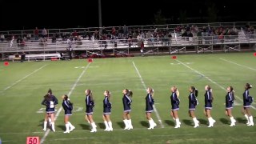
{"label": "girl in navy uniform and white boots, second from right in line", "polygon": [[232,86],[226,88],[226,115],[230,117],[231,124],[230,126],[235,126],[235,120],[232,115],[233,103],[234,103],[234,90]]}

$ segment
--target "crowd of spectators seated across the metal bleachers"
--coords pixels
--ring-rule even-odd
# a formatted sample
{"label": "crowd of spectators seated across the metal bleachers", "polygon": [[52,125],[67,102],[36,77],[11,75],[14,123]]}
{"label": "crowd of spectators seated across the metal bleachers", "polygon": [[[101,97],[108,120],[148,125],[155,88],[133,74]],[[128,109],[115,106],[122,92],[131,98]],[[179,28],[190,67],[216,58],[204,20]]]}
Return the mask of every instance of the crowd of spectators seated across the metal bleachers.
{"label": "crowd of spectators seated across the metal bleachers", "polygon": [[[243,27],[245,34],[254,34],[254,26],[246,25]],[[198,37],[213,37],[215,39],[223,39],[226,36],[238,36],[237,27],[227,27],[227,26],[201,26],[196,25],[180,25],[176,27],[169,28],[163,26],[150,26],[142,27],[128,27],[117,26],[117,27],[102,27],[98,28],[86,28],[77,29],[72,32],[52,32],[43,28],[38,30],[35,27],[33,33],[26,33],[22,35],[13,34],[1,34],[1,42],[9,42],[14,36],[17,39],[18,46],[25,46],[25,42],[39,42],[44,44],[46,42],[66,42],[70,39],[77,45],[82,45],[82,39],[89,41],[100,42],[102,46],[107,46],[107,41],[109,42],[126,42],[128,46],[142,46],[144,41],[147,40],[148,45],[154,46],[154,42],[158,42],[161,39],[162,45],[170,45],[170,40],[172,37],[184,37],[193,38]],[[231,37],[230,37],[231,38]],[[234,37],[232,37],[234,38]]]}

